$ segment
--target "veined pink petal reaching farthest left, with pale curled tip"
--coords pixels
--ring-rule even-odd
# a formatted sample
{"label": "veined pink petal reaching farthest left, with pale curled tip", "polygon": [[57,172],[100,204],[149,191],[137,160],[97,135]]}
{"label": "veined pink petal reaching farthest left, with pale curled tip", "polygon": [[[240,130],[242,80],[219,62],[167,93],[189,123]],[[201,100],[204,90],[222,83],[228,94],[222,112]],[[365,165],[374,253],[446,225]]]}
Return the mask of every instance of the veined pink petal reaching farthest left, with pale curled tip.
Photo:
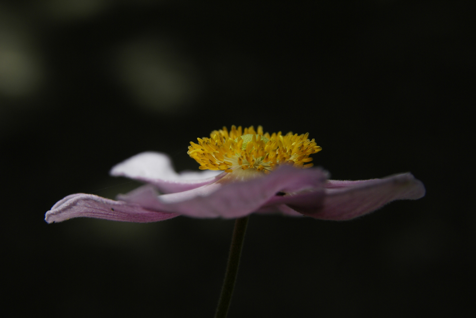
{"label": "veined pink petal reaching farthest left, with pale curled tip", "polygon": [[177,213],[150,211],[124,201],[101,198],[94,194],[71,194],[46,212],[48,223],[86,217],[126,222],[156,222],[177,217]]}

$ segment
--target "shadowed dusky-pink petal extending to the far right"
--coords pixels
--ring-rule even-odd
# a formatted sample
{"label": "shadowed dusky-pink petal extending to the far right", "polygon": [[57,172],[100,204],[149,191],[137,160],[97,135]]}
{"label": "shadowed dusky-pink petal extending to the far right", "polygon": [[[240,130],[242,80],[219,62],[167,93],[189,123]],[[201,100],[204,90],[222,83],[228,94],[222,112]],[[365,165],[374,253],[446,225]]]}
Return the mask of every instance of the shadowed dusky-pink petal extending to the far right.
{"label": "shadowed dusky-pink petal extending to the far right", "polygon": [[423,183],[411,173],[403,173],[384,179],[328,180],[324,195],[321,191],[304,191],[282,196],[270,203],[286,203],[316,219],[348,220],[380,209],[394,200],[420,199],[424,195]]}

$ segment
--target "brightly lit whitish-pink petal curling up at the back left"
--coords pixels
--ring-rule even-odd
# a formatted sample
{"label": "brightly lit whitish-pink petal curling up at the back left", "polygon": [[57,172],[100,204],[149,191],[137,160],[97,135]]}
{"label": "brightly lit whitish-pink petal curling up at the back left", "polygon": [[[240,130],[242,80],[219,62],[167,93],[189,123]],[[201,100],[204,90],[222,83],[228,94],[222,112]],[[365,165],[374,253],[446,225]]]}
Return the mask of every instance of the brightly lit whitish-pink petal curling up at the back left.
{"label": "brightly lit whitish-pink petal curling up at the back left", "polygon": [[226,175],[222,171],[175,172],[169,156],[160,152],[142,152],[115,165],[111,176],[147,182],[163,193],[181,192],[213,183]]}

